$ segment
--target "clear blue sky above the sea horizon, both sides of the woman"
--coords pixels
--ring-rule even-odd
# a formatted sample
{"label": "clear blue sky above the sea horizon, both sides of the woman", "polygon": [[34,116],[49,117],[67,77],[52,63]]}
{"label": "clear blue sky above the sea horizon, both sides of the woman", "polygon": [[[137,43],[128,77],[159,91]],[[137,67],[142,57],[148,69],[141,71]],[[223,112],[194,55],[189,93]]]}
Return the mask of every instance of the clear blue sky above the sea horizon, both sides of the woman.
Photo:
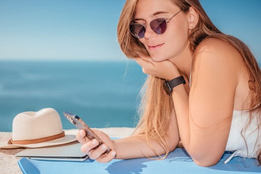
{"label": "clear blue sky above the sea horizon, both sides of the woman", "polygon": [[[261,0],[200,0],[213,23],[261,62]],[[0,60],[122,61],[125,0],[0,0]]]}

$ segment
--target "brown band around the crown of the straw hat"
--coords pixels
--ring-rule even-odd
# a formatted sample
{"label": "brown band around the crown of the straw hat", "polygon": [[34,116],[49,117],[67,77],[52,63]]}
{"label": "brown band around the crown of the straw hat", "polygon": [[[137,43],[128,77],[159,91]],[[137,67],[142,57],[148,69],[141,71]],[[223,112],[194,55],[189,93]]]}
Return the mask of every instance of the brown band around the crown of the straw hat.
{"label": "brown band around the crown of the straw hat", "polygon": [[32,140],[12,140],[12,139],[10,139],[7,144],[36,144],[36,143],[42,143],[42,142],[46,142],[46,141],[55,140],[58,138],[62,138],[64,136],[65,136],[65,133],[63,131],[60,134],[43,137],[43,138],[32,139]]}

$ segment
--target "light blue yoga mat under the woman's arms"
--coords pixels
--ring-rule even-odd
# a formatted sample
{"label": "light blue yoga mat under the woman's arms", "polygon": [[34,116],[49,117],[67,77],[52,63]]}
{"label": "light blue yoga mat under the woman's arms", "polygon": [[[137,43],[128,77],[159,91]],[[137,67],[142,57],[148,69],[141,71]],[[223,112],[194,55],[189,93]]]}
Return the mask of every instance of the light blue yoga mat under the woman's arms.
{"label": "light blue yoga mat under the woman's arms", "polygon": [[147,158],[112,160],[98,163],[87,159],[84,162],[40,161],[21,158],[18,165],[23,174],[260,174],[256,159],[235,157],[225,152],[218,164],[212,167],[197,166],[184,149],[177,148],[165,160]]}

